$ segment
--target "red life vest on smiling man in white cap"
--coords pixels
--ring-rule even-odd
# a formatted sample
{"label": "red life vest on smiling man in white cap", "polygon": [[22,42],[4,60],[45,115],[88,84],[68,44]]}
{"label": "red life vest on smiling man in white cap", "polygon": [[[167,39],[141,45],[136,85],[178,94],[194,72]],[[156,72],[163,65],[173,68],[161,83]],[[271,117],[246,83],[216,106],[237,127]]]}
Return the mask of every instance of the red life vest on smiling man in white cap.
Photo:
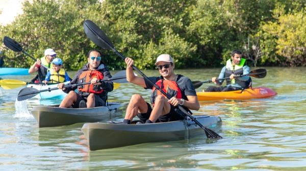
{"label": "red life vest on smiling man in white cap", "polygon": [[[179,88],[179,86],[177,86],[175,81],[160,79],[155,84],[158,85],[170,97],[182,98],[182,91]],[[158,95],[161,95],[161,94],[162,93],[153,86],[152,94],[151,94],[151,99],[150,99],[151,100],[151,104],[153,106],[154,106],[156,97]],[[164,97],[166,97],[164,94],[162,94],[162,95]]]}

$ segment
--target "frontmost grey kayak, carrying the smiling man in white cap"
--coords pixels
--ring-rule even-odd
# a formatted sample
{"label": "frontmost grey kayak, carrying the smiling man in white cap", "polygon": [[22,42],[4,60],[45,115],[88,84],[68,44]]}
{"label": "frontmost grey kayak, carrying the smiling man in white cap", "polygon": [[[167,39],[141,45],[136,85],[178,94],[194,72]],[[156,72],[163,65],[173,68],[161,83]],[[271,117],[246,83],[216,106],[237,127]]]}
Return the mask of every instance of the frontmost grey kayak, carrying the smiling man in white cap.
{"label": "frontmost grey kayak, carrying the smiling man in white cap", "polygon": [[[222,125],[220,117],[195,116],[205,127],[217,130]],[[134,122],[135,123],[135,122]],[[151,123],[85,123],[82,131],[87,139],[89,150],[118,148],[141,143],[168,142],[205,136],[205,131],[190,119]]]}

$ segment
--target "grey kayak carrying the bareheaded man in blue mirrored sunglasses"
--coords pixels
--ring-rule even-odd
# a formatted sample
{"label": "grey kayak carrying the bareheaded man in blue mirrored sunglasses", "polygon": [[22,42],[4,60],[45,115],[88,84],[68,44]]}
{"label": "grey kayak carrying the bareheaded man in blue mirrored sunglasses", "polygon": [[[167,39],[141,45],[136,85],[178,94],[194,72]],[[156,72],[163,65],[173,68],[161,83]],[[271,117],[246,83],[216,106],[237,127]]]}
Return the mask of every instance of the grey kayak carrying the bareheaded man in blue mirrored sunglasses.
{"label": "grey kayak carrying the bareheaded man in blue mirrored sunglasses", "polygon": [[58,106],[36,106],[31,113],[39,127],[71,125],[81,122],[110,121],[122,116],[124,104],[109,102],[108,106],[94,108],[59,108]]}

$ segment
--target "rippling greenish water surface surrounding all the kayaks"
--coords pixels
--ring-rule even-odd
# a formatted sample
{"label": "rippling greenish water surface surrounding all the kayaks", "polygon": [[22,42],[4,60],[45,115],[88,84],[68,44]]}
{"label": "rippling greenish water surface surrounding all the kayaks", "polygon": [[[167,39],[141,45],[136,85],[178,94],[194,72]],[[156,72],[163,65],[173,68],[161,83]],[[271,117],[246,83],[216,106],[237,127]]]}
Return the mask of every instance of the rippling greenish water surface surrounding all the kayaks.
{"label": "rippling greenish water surface surrounding all the kayaks", "polygon": [[[218,115],[223,121],[218,133],[224,139],[214,143],[207,143],[203,136],[91,152],[81,131],[82,123],[38,128],[28,111],[60,100],[29,99],[15,106],[21,88],[1,89],[0,170],[306,170],[306,68],[266,69],[266,78],[253,78],[253,87],[269,87],[277,96],[200,103],[195,115]],[[193,81],[210,79],[219,72],[220,69],[176,71]],[[31,76],[3,78],[28,81]],[[201,88],[209,85],[212,84]],[[109,93],[109,98],[127,102],[133,93],[148,99],[150,91],[122,84]]]}

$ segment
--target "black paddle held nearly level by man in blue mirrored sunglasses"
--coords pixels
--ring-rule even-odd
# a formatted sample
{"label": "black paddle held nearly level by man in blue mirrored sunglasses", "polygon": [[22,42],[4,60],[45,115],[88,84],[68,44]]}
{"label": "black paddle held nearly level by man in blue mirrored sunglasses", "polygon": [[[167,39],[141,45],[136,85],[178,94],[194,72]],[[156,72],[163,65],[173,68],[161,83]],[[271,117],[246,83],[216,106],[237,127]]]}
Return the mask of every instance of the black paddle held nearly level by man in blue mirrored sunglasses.
{"label": "black paddle held nearly level by man in blue mirrored sunglasses", "polygon": [[[116,83],[127,83],[125,71],[119,71],[112,78],[109,78],[109,79],[97,80],[97,82],[100,82],[100,83],[105,82],[105,81],[114,81]],[[87,84],[91,84],[91,82],[65,85],[63,88],[77,87],[77,86],[80,86],[80,85],[87,85]],[[115,85],[114,85],[114,87],[115,87]],[[44,90],[37,90],[33,87],[26,87],[26,88],[23,88],[19,91],[17,100],[18,101],[26,100],[26,99],[34,97],[38,93],[45,92],[45,91],[57,90],[57,89],[59,89],[59,88],[55,87],[55,88],[48,88],[48,89],[44,89]]]}

